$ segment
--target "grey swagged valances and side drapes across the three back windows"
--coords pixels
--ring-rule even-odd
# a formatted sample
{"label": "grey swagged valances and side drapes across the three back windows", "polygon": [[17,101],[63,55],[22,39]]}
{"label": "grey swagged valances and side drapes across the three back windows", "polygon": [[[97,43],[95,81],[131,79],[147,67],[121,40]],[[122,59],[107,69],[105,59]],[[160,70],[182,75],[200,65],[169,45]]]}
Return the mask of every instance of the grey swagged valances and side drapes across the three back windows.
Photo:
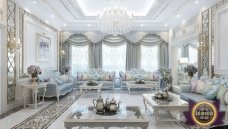
{"label": "grey swagged valances and side drapes across the three back windows", "polygon": [[[75,46],[85,46],[89,45],[89,65],[91,68],[102,68],[102,44],[108,46],[119,46],[127,44],[126,51],[126,70],[132,68],[140,68],[141,61],[141,45],[145,46],[159,46],[159,66],[161,68],[168,67],[168,43],[164,41],[159,35],[147,34],[143,36],[141,40],[137,43],[133,43],[128,40],[125,36],[117,35],[107,35],[102,40],[97,43],[93,43],[87,38],[87,36],[82,34],[74,34],[63,42],[63,47],[65,52],[67,52],[68,64],[70,63],[70,49],[71,45]],[[67,61],[67,60],[65,60]],[[67,63],[67,62],[65,62]]]}

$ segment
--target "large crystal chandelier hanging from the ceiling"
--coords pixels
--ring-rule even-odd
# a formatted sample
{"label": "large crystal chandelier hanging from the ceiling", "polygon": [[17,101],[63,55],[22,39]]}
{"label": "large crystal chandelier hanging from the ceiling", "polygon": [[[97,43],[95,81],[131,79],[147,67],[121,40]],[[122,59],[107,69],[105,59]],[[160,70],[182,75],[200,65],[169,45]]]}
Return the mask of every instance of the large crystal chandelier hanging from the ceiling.
{"label": "large crystal chandelier hanging from the ceiling", "polygon": [[125,34],[133,29],[133,12],[126,8],[108,7],[98,13],[100,31],[105,34]]}

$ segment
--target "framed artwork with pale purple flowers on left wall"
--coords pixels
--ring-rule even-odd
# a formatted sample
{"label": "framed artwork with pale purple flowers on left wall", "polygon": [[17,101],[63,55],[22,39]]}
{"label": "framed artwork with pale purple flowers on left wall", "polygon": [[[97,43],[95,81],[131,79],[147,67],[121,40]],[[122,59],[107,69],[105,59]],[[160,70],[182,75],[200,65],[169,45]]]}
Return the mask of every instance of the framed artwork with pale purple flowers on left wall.
{"label": "framed artwork with pale purple flowers on left wall", "polygon": [[51,39],[37,33],[36,41],[36,59],[37,61],[50,61]]}

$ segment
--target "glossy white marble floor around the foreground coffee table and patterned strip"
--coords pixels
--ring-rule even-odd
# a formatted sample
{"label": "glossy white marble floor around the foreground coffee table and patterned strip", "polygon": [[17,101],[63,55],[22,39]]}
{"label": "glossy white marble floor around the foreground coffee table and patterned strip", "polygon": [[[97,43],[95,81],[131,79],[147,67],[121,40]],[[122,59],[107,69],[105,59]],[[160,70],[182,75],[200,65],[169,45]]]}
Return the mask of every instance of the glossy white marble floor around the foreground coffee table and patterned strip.
{"label": "glossy white marble floor around the foreground coffee table and patterned strip", "polygon": [[[127,94],[127,93],[101,93],[102,97],[104,98],[115,98],[118,101],[121,101],[122,104],[130,105],[130,106],[140,106],[141,109],[144,109],[143,99],[140,94]],[[96,98],[96,95],[91,94],[83,94],[74,104],[72,104],[62,115],[58,117],[49,127],[48,129],[64,129],[64,119],[76,106],[92,106],[92,100]],[[35,114],[37,111],[41,110],[48,104],[52,103],[53,101],[46,101],[44,106],[39,107],[38,109],[31,109],[31,108],[24,108],[20,111],[17,111],[3,119],[0,120],[0,128],[1,129],[10,129],[17,125],[18,123],[22,122],[29,116]],[[184,129],[182,125],[177,122],[159,122],[159,124],[155,123],[154,116],[148,113],[149,122],[149,129]],[[75,128],[77,129],[77,128]],[[95,128],[94,128],[95,129]],[[96,128],[100,129],[100,128]],[[116,128],[113,128],[116,129]],[[126,129],[126,128],[124,128]],[[130,129],[130,128],[129,128]]]}

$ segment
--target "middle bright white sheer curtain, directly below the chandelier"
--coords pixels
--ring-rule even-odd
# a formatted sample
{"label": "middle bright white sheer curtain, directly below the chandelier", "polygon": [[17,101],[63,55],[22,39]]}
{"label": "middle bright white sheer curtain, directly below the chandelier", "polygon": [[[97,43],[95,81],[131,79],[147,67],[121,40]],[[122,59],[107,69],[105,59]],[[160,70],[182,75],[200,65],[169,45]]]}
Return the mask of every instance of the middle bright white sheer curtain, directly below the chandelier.
{"label": "middle bright white sheer curtain, directly below the chandelier", "polygon": [[102,68],[105,71],[125,71],[126,43],[120,46],[102,44]]}

